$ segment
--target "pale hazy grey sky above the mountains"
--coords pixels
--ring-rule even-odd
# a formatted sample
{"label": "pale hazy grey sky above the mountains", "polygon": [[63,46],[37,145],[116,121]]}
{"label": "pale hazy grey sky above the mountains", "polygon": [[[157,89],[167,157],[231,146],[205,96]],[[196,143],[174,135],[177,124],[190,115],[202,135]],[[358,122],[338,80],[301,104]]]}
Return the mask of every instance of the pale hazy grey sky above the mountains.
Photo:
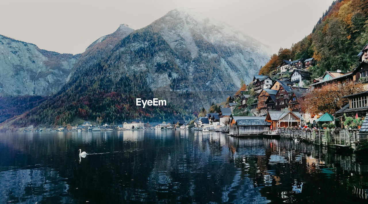
{"label": "pale hazy grey sky above the mountains", "polygon": [[143,28],[175,8],[195,8],[269,45],[290,48],[333,0],[3,0],[0,34],[78,54],[122,23]]}

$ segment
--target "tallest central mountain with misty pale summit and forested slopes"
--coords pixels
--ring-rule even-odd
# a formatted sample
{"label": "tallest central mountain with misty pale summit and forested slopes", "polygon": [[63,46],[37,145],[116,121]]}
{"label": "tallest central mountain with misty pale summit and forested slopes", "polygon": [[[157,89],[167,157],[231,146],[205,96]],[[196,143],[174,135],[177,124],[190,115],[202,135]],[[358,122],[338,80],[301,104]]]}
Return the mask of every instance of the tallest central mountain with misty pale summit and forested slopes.
{"label": "tallest central mountain with misty pale summit and forested slopes", "polygon": [[[190,120],[187,111],[225,100],[269,59],[266,45],[193,10],[170,11],[104,50],[112,36],[81,54],[58,94],[6,124]],[[154,97],[168,105],[135,105]]]}

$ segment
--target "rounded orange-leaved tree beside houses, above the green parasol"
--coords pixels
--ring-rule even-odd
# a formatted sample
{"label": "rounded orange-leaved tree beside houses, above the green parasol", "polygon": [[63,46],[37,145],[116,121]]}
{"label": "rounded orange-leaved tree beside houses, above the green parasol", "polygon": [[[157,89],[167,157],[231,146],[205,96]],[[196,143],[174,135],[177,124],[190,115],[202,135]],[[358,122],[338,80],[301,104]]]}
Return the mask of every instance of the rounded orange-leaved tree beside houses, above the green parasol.
{"label": "rounded orange-leaved tree beside houses, above the green parasol", "polygon": [[348,82],[343,84],[328,84],[322,88],[315,88],[305,95],[300,103],[301,109],[309,114],[333,114],[347,104],[348,99],[343,96],[364,91],[362,84]]}

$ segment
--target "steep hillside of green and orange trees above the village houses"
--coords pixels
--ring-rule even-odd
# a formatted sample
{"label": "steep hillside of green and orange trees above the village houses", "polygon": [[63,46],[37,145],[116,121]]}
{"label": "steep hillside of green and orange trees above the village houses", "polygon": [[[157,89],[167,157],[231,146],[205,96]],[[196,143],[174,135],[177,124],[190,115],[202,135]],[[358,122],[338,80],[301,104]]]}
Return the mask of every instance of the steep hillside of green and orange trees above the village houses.
{"label": "steep hillside of green and orange trees above the village houses", "polygon": [[280,49],[262,67],[260,74],[275,72],[283,59],[313,57],[312,79],[326,70],[347,72],[357,66],[357,54],[368,43],[368,1],[337,0],[323,13],[312,33],[291,48]]}

